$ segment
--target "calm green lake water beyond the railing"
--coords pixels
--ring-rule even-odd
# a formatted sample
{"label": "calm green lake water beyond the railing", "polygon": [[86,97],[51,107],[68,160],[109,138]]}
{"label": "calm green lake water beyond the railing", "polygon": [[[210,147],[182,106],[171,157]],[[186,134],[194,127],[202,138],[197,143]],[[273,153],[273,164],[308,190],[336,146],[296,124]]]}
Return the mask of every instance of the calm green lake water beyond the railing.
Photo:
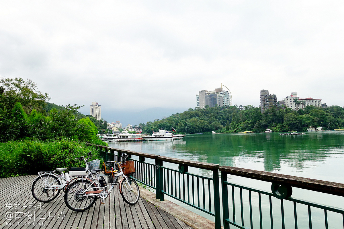
{"label": "calm green lake water beyond the railing", "polygon": [[[344,183],[344,131],[308,132],[306,135],[200,134],[174,141],[110,142],[109,145],[167,157]],[[253,187],[258,185],[259,189],[266,191],[271,185],[240,177],[233,177],[230,181]],[[344,206],[343,197],[297,188],[293,188],[292,196],[340,208]],[[336,227],[343,228],[343,221],[338,224],[341,226]]]}

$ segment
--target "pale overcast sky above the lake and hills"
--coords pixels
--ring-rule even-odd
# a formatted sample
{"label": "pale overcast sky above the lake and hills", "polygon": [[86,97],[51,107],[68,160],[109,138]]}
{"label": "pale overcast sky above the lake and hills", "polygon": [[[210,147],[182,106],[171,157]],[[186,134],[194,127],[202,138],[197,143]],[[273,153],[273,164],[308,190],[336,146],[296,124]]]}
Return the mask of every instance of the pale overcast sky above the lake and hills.
{"label": "pale overcast sky above the lake and hills", "polygon": [[344,106],[343,43],[342,0],[0,0],[0,77],[84,114],[184,111],[221,83],[233,105],[266,89]]}

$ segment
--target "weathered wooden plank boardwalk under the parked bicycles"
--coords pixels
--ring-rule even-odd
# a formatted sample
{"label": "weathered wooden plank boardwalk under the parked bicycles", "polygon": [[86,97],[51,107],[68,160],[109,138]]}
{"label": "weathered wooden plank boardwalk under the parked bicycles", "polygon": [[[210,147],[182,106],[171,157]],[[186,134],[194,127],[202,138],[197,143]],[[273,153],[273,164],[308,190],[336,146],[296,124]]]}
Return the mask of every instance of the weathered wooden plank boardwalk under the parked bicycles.
{"label": "weathered wooden plank boardwalk under the parked bicycles", "polygon": [[144,199],[128,205],[118,188],[84,212],[70,210],[63,194],[50,203],[37,202],[31,194],[36,175],[0,179],[0,229],[56,228],[56,229],[190,229],[181,220],[155,207]]}

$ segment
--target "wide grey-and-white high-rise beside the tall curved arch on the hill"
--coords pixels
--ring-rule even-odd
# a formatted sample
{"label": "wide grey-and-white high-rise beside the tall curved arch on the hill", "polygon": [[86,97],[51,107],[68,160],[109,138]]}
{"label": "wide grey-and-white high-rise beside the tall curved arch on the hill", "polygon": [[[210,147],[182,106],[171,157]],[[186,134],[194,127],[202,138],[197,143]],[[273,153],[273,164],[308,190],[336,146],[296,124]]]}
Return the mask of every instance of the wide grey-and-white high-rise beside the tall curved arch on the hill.
{"label": "wide grey-and-white high-rise beside the tall curved arch on the hill", "polygon": [[206,105],[214,107],[216,104],[232,106],[232,94],[222,88],[216,88],[214,91],[202,90],[196,95],[196,104],[199,108],[204,108]]}

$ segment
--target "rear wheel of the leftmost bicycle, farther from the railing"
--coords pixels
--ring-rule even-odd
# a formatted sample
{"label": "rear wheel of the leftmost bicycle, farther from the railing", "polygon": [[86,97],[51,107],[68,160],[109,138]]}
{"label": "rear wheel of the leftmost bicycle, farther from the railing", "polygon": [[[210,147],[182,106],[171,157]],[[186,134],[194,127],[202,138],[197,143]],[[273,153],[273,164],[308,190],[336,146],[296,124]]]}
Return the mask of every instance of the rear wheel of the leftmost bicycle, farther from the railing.
{"label": "rear wheel of the leftmost bicycle, farther from the railing", "polygon": [[49,186],[60,185],[60,180],[52,174],[45,174],[42,176],[37,176],[35,180],[33,180],[31,192],[33,198],[37,201],[46,203],[50,202],[55,199],[58,194],[60,194],[61,189],[49,189]]}

